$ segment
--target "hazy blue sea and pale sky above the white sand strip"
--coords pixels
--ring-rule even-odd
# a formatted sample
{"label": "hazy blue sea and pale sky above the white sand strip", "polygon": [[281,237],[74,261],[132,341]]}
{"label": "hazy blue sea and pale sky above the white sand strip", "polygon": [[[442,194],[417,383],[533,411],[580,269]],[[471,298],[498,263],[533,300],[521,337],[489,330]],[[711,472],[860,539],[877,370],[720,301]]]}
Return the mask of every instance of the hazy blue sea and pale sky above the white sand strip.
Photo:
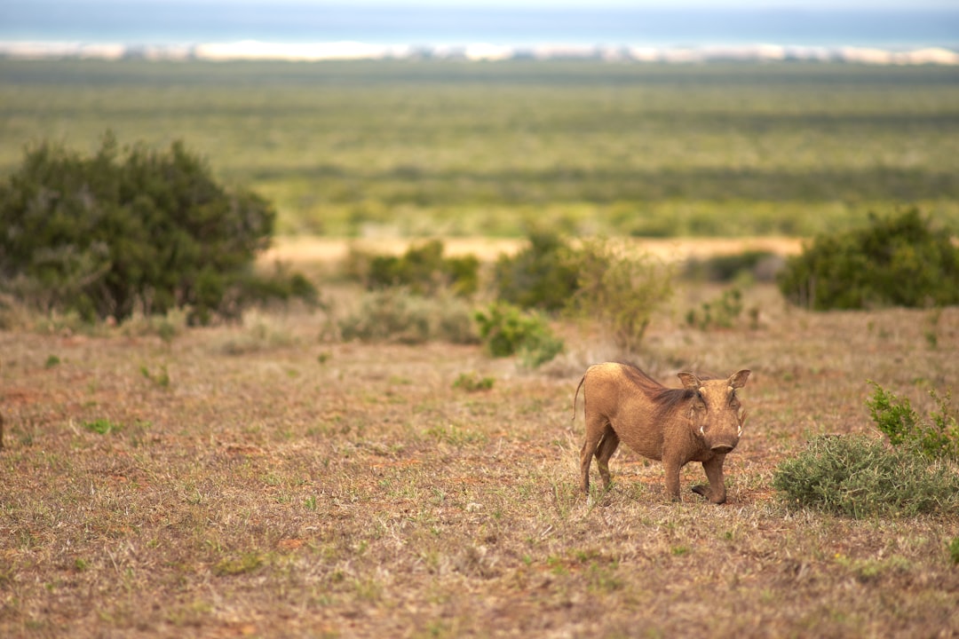
{"label": "hazy blue sea and pale sky above the white sand strip", "polygon": [[34,0],[0,6],[0,40],[175,45],[258,40],[382,45],[959,45],[955,10],[371,8],[296,2],[234,5]]}

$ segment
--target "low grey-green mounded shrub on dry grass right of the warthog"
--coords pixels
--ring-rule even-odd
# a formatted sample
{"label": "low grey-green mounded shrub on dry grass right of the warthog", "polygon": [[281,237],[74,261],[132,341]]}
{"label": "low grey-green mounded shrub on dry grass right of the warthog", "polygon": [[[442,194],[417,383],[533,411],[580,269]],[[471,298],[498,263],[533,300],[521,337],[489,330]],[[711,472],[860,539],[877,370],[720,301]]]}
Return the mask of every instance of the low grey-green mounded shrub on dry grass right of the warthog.
{"label": "low grey-green mounded shrub on dry grass right of the warthog", "polygon": [[789,503],[856,518],[950,513],[959,508],[959,473],[912,447],[890,450],[863,435],[822,435],[784,461],[773,487]]}

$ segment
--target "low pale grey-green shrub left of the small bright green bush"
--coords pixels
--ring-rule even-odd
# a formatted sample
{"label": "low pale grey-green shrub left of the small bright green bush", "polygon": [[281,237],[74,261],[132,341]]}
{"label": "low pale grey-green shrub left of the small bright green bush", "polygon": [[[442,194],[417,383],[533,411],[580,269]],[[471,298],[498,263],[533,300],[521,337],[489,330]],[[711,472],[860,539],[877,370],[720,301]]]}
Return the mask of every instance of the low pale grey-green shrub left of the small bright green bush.
{"label": "low pale grey-green shrub left of the small bright green bush", "polygon": [[400,288],[372,291],[361,308],[339,321],[343,339],[422,344],[476,343],[470,309],[458,299],[426,298]]}

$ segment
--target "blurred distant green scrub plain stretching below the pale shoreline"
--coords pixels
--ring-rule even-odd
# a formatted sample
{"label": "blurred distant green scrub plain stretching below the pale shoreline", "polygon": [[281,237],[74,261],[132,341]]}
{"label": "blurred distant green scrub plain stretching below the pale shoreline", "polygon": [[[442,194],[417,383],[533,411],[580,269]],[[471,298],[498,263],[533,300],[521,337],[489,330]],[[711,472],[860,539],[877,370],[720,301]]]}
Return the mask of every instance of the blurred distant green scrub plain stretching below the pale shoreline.
{"label": "blurred distant green scrub plain stretching below the pale shoreline", "polygon": [[182,139],[284,234],[808,236],[959,226],[959,69],[0,59],[0,174],[47,138]]}

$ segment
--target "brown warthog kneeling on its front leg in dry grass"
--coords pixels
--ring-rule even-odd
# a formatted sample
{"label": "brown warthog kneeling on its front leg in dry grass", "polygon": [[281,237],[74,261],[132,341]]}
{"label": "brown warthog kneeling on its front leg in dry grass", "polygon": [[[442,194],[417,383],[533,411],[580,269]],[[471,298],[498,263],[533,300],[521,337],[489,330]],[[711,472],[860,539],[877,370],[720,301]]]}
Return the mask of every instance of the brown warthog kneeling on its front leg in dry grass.
{"label": "brown warthog kneeling on its front leg in dry grass", "polygon": [[680,373],[683,388],[667,388],[630,364],[606,362],[591,366],[573,396],[583,389],[586,442],[579,455],[582,489],[590,490],[590,464],[596,456],[599,475],[609,489],[609,459],[620,441],[644,457],[661,460],[666,487],[679,500],[679,469],[701,462],[709,486],[692,491],[714,504],[726,501],[722,465],[726,454],[739,443],[746,414],[736,397],[749,377],[739,371],[729,379],[700,379]]}

